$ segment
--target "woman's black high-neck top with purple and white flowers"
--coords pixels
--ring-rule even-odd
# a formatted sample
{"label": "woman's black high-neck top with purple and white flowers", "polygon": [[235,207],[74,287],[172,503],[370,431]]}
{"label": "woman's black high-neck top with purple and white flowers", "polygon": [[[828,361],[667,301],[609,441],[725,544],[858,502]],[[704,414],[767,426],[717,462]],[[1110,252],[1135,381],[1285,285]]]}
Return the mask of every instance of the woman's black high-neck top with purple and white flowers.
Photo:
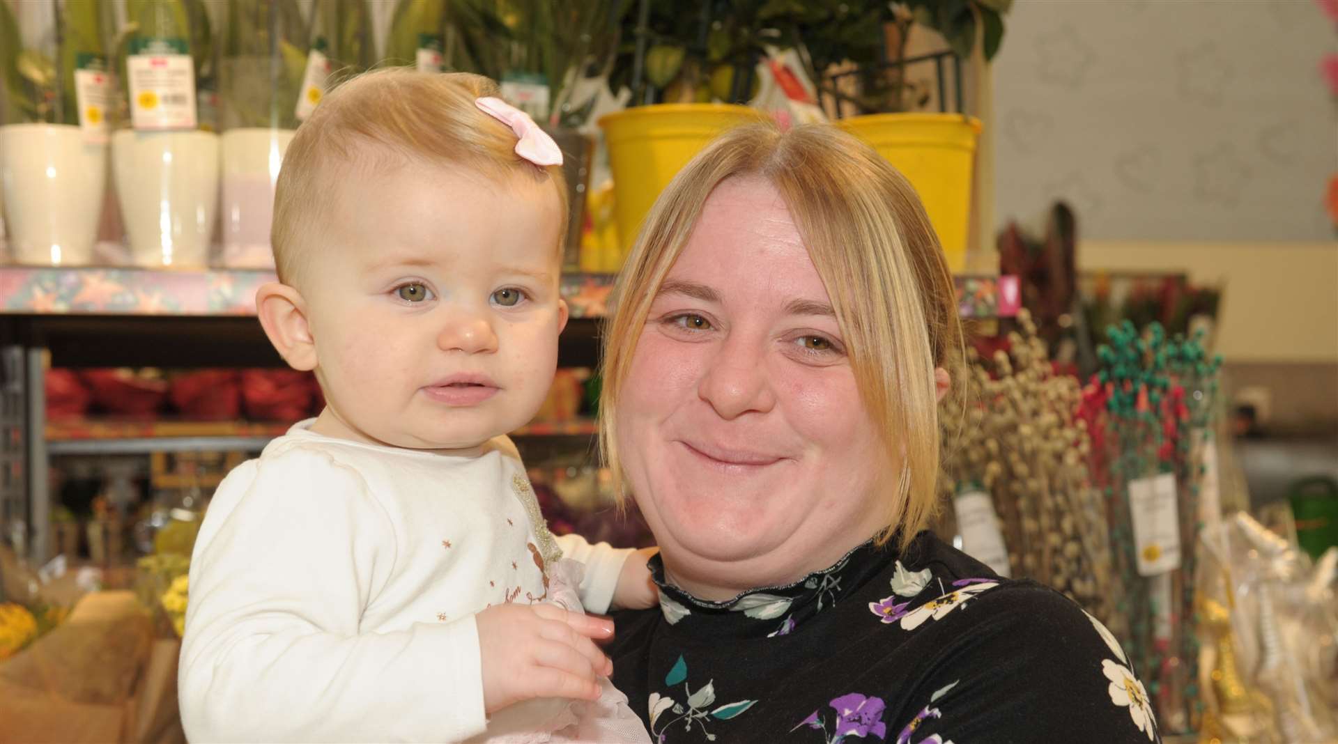
{"label": "woman's black high-neck top with purple and white flowers", "polygon": [[1105,626],[931,533],[728,602],[650,567],[661,606],[615,613],[609,652],[653,741],[1160,741]]}

